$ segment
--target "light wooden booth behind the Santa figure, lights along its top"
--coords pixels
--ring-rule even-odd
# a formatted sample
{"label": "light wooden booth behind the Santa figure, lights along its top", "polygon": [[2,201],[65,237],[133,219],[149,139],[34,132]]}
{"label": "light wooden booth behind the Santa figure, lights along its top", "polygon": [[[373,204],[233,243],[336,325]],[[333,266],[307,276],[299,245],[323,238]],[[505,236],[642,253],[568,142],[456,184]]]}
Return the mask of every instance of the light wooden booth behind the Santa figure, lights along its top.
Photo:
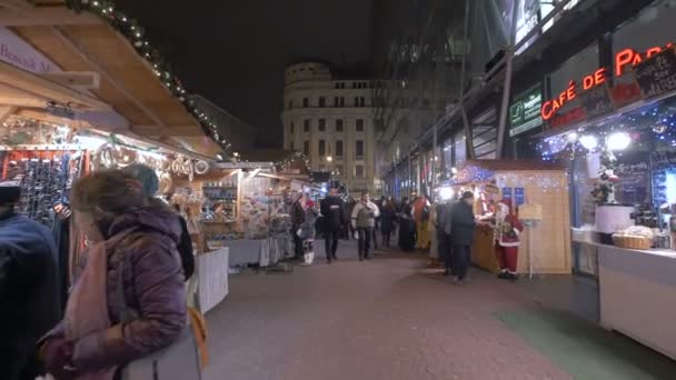
{"label": "light wooden booth behind the Santa figure, lights along its top", "polygon": [[[568,177],[561,167],[528,160],[468,160],[450,183],[456,194],[475,193],[475,216],[481,220],[495,218],[499,201],[511,201],[513,212],[525,226],[518,272],[570,272]],[[494,237],[491,227],[477,227],[471,250],[473,262],[490,272],[498,271]]]}

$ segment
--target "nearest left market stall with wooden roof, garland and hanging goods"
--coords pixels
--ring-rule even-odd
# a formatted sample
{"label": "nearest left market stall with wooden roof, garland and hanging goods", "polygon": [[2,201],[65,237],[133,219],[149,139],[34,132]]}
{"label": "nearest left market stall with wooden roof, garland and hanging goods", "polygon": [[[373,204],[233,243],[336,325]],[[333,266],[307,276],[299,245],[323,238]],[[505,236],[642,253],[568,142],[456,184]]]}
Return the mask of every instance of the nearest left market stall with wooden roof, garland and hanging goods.
{"label": "nearest left market stall with wooden roof, garland and hanging goods", "polygon": [[[74,180],[145,163],[169,200],[177,181],[208,172],[229,143],[143,28],[110,1],[2,2],[0,19],[0,174],[21,182],[19,211],[59,237],[66,293],[84,248],[68,209]],[[211,268],[227,274],[220,253],[222,266],[198,257],[200,298],[227,293],[227,277],[202,280]]]}

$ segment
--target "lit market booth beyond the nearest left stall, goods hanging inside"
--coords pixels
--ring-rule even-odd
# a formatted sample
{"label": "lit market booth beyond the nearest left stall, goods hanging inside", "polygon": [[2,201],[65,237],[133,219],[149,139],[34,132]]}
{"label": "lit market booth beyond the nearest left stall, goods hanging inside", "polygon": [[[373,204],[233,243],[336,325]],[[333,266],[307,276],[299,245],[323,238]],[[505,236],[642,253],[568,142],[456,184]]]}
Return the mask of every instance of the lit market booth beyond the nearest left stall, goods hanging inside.
{"label": "lit market booth beyond the nearest left stall, goods hanging inside", "polygon": [[229,248],[230,267],[274,268],[292,254],[289,210],[300,193],[311,191],[307,159],[290,151],[272,156],[279,160],[219,162],[193,181],[177,183],[172,201],[200,250]]}

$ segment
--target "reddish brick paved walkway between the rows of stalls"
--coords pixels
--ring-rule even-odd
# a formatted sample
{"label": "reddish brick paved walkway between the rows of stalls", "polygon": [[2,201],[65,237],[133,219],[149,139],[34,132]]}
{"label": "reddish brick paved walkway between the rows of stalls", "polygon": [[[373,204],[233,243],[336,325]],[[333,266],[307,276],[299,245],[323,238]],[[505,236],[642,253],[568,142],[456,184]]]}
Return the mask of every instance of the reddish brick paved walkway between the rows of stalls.
{"label": "reddish brick paved walkway between the rows of stalls", "polygon": [[231,277],[205,379],[570,379],[494,317],[536,307],[516,287],[479,271],[457,287],[399,252],[358,262],[354,242],[338,256]]}

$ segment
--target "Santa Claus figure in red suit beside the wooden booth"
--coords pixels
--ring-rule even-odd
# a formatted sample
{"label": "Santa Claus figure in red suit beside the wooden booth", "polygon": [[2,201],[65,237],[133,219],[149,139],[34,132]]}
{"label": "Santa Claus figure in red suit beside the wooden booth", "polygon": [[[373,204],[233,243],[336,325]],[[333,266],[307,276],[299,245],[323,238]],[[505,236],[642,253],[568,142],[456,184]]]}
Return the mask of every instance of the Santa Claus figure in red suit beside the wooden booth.
{"label": "Santa Claus figure in red suit beside the wooden booth", "polygon": [[495,251],[500,266],[498,278],[516,280],[519,236],[524,226],[511,210],[511,200],[503,199],[498,202],[495,219]]}

